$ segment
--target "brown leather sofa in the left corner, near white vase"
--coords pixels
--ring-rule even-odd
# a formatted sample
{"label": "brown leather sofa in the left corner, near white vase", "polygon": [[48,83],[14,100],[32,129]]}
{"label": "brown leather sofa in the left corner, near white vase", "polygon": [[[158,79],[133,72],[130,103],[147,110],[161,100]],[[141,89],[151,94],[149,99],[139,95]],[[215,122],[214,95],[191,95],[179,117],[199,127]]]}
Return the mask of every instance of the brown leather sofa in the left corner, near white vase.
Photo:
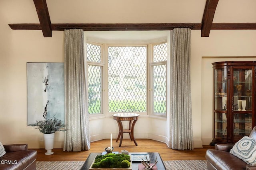
{"label": "brown leather sofa in the left corner, near white vase", "polygon": [[6,154],[0,157],[0,170],[35,170],[36,150],[28,150],[28,144],[4,145]]}

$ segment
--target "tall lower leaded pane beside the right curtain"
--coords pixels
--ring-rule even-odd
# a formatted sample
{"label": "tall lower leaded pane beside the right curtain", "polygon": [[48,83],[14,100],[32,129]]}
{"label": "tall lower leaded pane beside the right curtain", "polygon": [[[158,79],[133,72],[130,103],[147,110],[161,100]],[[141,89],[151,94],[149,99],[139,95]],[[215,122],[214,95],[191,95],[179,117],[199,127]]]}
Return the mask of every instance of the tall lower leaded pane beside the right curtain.
{"label": "tall lower leaded pane beside the right curtain", "polygon": [[166,65],[153,66],[154,113],[166,113]]}

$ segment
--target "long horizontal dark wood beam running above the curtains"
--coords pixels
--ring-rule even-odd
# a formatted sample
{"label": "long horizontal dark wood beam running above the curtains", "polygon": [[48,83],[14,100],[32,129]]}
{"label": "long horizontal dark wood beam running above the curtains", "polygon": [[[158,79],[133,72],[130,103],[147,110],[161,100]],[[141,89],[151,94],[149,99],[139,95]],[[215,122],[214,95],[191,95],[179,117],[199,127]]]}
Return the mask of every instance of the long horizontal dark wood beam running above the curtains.
{"label": "long horizontal dark wood beam running above the curtains", "polygon": [[[42,30],[40,24],[9,24],[12,30]],[[173,30],[191,28],[201,30],[201,23],[163,23],[163,24],[51,24],[51,30],[83,29],[85,31],[117,30]],[[212,23],[211,30],[256,30],[256,23]]]}

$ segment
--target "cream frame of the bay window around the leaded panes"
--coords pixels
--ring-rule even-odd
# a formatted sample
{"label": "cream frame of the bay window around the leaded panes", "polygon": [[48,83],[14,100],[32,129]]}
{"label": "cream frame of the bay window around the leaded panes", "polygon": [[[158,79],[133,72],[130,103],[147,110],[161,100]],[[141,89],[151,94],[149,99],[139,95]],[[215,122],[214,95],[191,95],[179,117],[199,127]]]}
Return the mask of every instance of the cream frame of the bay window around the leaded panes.
{"label": "cream frame of the bay window around the leaded panes", "polygon": [[[152,115],[155,117],[163,117],[166,118],[167,114],[155,114],[153,113],[153,66],[154,65],[166,65],[166,81],[167,81],[167,61],[160,61],[160,62],[153,62],[153,47],[154,45],[158,45],[161,43],[167,43],[167,40],[162,40],[154,43],[98,43],[98,42],[92,42],[88,41],[87,43],[94,44],[94,45],[100,45],[101,46],[101,62],[92,62],[92,61],[86,61],[86,66],[88,68],[88,65],[96,65],[102,67],[102,95],[101,95],[101,113],[100,114],[90,114],[90,119],[93,118],[99,118],[99,117],[105,117],[105,116],[111,116],[112,114],[116,112],[109,113],[108,111],[108,47],[110,46],[146,46],[147,48],[147,58],[146,58],[146,79],[147,79],[147,88],[146,88],[146,112],[134,112],[139,113],[140,115]],[[149,74],[150,73],[150,74]],[[88,75],[87,75],[88,77]],[[167,102],[167,82],[166,82],[166,102]],[[167,112],[167,105],[166,105],[166,112]]]}

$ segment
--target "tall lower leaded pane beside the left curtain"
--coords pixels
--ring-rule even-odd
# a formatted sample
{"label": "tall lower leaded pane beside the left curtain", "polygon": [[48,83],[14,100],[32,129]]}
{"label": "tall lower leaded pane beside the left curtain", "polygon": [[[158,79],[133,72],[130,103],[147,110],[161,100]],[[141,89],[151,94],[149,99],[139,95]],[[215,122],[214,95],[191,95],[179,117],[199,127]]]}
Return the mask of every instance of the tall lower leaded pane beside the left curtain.
{"label": "tall lower leaded pane beside the left curtain", "polygon": [[88,65],[88,112],[101,113],[101,67]]}

